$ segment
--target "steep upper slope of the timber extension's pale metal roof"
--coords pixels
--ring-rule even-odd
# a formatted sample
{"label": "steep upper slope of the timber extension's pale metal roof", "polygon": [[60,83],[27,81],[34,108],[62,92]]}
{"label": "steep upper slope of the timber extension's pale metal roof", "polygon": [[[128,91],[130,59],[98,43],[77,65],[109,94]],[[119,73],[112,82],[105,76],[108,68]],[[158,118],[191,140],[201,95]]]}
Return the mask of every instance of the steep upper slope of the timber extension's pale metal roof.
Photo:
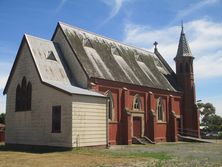
{"label": "steep upper slope of the timber extension's pale metal roof", "polygon": [[[36,66],[43,81],[52,80],[70,83],[59,46],[48,40],[26,35]],[[50,54],[56,60],[49,58]]]}

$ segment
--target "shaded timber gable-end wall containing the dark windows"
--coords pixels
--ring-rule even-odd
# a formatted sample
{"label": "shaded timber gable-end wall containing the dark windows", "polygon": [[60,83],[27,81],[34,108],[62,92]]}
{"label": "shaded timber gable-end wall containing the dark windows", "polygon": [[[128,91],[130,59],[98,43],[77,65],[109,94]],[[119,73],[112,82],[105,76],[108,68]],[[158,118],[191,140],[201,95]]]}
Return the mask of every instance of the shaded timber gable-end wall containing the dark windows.
{"label": "shaded timber gable-end wall containing the dark windows", "polygon": [[[16,87],[23,76],[32,84],[32,109],[15,112]],[[55,105],[61,105],[61,133],[51,133]],[[6,143],[72,147],[72,96],[41,83],[26,43],[7,91]]]}

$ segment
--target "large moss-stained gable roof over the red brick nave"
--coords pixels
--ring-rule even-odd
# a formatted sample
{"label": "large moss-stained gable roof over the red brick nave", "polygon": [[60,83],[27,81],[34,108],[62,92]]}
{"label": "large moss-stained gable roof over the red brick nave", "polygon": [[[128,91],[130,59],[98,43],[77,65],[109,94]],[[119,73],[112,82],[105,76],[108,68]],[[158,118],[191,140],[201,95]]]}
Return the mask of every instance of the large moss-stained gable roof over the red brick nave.
{"label": "large moss-stained gable roof over the red brick nave", "polygon": [[65,23],[58,27],[89,78],[177,91],[175,73],[155,53]]}

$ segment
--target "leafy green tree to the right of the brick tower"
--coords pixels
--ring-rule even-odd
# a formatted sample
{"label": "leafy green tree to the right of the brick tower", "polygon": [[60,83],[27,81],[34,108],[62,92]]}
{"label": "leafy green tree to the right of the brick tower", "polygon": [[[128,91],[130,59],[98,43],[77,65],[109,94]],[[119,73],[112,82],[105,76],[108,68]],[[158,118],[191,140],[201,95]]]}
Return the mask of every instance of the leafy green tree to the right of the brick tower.
{"label": "leafy green tree to the right of the brick tower", "polygon": [[206,132],[222,131],[222,117],[216,115],[215,107],[211,103],[197,103],[202,116],[201,125],[205,126]]}

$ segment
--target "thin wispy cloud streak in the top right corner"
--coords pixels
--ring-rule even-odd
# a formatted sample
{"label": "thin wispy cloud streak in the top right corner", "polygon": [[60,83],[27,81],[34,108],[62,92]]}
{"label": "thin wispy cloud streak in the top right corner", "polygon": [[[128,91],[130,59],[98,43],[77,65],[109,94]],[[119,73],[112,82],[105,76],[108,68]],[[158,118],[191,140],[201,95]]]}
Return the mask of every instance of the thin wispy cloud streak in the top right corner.
{"label": "thin wispy cloud streak in the top right corner", "polygon": [[216,4],[220,2],[221,0],[201,0],[197,3],[190,4],[187,8],[183,10],[179,10],[176,17],[170,22],[170,25],[172,23],[175,23],[178,20],[182,20],[184,17],[192,14],[193,12],[196,12],[204,7],[207,7],[209,5]]}

